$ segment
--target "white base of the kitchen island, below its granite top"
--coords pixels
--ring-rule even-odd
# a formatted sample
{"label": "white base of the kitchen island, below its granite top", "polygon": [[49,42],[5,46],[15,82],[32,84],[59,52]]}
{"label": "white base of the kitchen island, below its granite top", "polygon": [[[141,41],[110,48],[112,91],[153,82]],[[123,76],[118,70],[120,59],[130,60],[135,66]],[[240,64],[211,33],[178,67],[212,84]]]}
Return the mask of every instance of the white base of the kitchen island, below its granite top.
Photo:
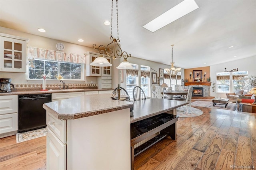
{"label": "white base of the kitchen island, below its granite top", "polygon": [[[66,127],[54,120],[49,124],[47,169],[130,170],[130,108],[61,121]],[[62,131],[58,128],[66,129],[66,144],[55,134]]]}

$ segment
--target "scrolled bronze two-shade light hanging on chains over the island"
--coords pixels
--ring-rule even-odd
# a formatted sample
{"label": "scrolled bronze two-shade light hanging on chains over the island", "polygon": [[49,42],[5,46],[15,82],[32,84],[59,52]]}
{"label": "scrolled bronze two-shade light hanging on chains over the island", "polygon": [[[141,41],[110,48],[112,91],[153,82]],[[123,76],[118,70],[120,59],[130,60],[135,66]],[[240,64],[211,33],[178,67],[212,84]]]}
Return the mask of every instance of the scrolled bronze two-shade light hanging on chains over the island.
{"label": "scrolled bronze two-shade light hanging on chains over the island", "polygon": [[111,43],[109,43],[106,47],[104,45],[100,45],[96,47],[96,44],[93,44],[92,47],[94,49],[97,49],[100,53],[99,57],[97,57],[90,65],[93,66],[111,66],[112,64],[108,62],[106,58],[103,57],[103,54],[108,55],[108,57],[111,57],[113,59],[124,57],[124,61],[116,67],[117,69],[133,69],[132,65],[127,61],[128,57],[131,57],[131,54],[128,54],[126,51],[122,51],[120,47],[120,40],[119,40],[119,33],[118,33],[118,5],[116,0],[116,21],[117,21],[117,39],[112,37],[112,20],[113,20],[113,0],[112,0],[112,6],[111,6],[111,31],[110,31],[110,40],[112,40]]}

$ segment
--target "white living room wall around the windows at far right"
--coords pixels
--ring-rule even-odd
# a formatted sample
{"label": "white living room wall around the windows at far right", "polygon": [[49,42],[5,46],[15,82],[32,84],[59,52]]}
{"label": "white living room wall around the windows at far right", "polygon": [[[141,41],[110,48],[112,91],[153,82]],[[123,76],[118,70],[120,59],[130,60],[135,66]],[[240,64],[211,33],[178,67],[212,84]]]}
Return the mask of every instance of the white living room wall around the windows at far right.
{"label": "white living room wall around the windows at far right", "polygon": [[[256,76],[256,56],[244,58],[244,59],[238,59],[235,61],[229,61],[226,63],[221,63],[217,65],[211,65],[210,66],[210,77],[211,81],[216,83],[216,73],[217,72],[224,72],[225,68],[227,70],[237,69],[238,71],[248,71],[248,75]],[[232,93],[232,92],[230,92]],[[226,93],[216,93],[212,92],[212,86],[211,86],[211,96],[213,97],[222,97],[226,98]]]}

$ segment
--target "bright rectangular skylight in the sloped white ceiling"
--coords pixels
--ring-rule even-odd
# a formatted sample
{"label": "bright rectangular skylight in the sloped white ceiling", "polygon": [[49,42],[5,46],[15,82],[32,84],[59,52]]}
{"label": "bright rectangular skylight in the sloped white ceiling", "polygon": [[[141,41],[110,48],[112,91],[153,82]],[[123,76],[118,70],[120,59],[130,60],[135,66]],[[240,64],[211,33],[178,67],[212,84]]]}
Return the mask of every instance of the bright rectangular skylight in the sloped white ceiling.
{"label": "bright rectangular skylight in the sloped white ceiling", "polygon": [[182,16],[185,16],[198,8],[199,7],[194,0],[184,0],[180,2],[180,4],[166,11],[164,14],[150,21],[148,24],[144,25],[143,28],[146,28],[151,32],[155,32],[156,30],[159,30],[160,28],[178,20]]}

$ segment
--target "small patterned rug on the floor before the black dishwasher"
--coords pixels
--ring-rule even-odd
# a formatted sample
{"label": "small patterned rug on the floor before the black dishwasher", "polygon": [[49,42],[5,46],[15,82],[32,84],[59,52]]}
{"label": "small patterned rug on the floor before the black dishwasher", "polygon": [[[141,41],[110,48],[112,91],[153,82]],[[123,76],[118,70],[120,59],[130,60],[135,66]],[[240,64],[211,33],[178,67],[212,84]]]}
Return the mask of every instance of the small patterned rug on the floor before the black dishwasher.
{"label": "small patterned rug on the floor before the black dishwasher", "polygon": [[36,130],[31,130],[28,132],[22,132],[16,134],[16,142],[24,142],[30,139],[39,138],[46,135],[46,128],[40,128]]}

